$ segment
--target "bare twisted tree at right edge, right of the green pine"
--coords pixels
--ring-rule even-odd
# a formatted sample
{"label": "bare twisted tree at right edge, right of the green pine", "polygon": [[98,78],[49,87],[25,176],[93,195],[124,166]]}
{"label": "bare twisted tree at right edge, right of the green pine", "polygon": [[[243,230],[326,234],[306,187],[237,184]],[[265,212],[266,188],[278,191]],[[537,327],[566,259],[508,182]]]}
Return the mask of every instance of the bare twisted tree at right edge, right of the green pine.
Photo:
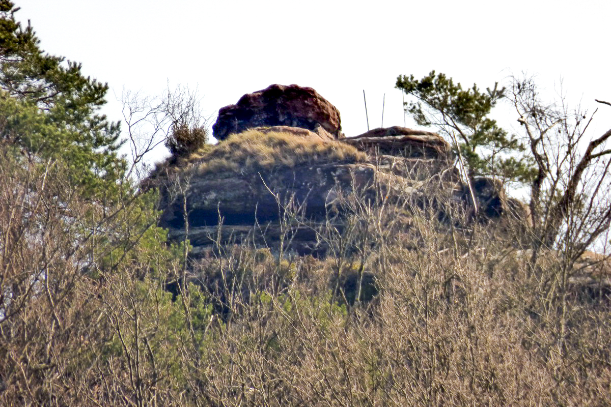
{"label": "bare twisted tree at right edge, right of the green pine", "polygon": [[580,225],[571,227],[579,232],[576,238],[585,250],[611,220],[604,193],[610,185],[611,149],[605,146],[611,129],[594,139],[588,137],[596,111],[588,115],[571,110],[564,99],[544,103],[529,77],[513,78],[510,98],[535,162],[529,203],[535,248],[553,247],[558,236],[568,232],[567,222],[580,212]]}

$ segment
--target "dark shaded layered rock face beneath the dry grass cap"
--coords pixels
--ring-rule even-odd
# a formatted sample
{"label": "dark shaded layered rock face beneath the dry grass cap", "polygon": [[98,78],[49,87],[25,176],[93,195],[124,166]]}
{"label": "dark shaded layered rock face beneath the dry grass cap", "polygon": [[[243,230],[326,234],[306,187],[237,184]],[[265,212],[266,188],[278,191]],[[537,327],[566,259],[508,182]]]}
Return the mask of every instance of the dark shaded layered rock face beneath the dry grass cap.
{"label": "dark shaded layered rock face beneath the dry grass cap", "polygon": [[324,248],[316,241],[313,229],[326,221],[330,211],[337,210],[338,197],[358,193],[362,200],[384,196],[395,203],[412,200],[417,204],[423,187],[422,181],[388,173],[371,163],[301,165],[267,173],[196,176],[189,181],[186,195],[166,196],[161,225],[169,228],[170,239],[183,239],[186,200],[189,240],[196,256],[219,237],[222,242],[232,243],[252,239],[255,223],[263,225],[266,242],[273,246],[281,231],[278,220],[282,209],[277,200],[292,200],[303,207],[301,215],[309,221],[295,228],[291,248],[300,254],[316,253]]}

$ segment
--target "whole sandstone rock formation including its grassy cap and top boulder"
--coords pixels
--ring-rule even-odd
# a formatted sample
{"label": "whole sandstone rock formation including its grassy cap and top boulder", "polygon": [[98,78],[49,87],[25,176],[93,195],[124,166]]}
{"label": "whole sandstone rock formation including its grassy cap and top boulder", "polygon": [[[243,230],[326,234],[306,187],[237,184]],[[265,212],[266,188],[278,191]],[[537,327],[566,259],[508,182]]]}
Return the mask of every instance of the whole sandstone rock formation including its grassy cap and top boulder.
{"label": "whole sandstone rock formation including its grassy cap and top boulder", "polygon": [[[312,88],[272,85],[244,95],[221,109],[214,124],[218,145],[168,160],[148,179],[161,192],[160,225],[170,240],[188,237],[192,259],[232,245],[276,254],[280,242],[291,253],[324,257],[331,248],[324,236],[346,227],[352,211],[346,202],[377,201],[398,209],[390,232],[414,239],[415,249],[422,242],[411,229],[413,214],[421,209],[448,229],[462,229],[459,234],[478,222],[493,239],[510,237],[506,243],[529,247],[529,207],[508,197],[497,179],[463,182],[452,148],[439,135],[393,126],[344,138],[340,129],[337,109]],[[286,207],[295,212],[287,217]],[[522,252],[514,251],[518,263],[530,256]],[[606,259],[584,255],[576,267],[568,280],[574,295],[611,295]],[[345,277],[350,292],[357,280]],[[375,276],[364,270],[362,278],[375,295]]]}

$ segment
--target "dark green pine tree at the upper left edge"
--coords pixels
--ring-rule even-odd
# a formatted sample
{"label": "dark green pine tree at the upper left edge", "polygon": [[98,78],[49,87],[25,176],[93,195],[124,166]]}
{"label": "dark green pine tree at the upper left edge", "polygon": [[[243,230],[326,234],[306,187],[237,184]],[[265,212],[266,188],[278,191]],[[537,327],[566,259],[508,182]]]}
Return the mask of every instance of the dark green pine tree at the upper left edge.
{"label": "dark green pine tree at the upper left edge", "polygon": [[18,10],[12,1],[0,0],[0,98],[2,120],[9,124],[0,137],[8,138],[21,113],[31,116],[37,109],[35,121],[54,128],[55,137],[29,132],[10,141],[38,157],[69,157],[70,175],[89,182],[92,192],[109,187],[124,164],[117,157],[119,123],[99,114],[108,85],[84,76],[81,64],[46,54],[34,29],[15,20]]}

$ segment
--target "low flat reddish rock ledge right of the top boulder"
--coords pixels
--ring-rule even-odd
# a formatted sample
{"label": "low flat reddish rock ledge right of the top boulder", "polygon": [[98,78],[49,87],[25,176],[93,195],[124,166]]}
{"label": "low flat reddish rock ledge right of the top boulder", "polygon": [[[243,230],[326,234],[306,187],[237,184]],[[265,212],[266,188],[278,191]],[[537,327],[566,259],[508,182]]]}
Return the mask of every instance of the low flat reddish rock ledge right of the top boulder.
{"label": "low flat reddish rock ledge right of the top boulder", "polygon": [[378,154],[441,160],[452,157],[450,145],[439,134],[400,126],[373,129],[342,142]]}

